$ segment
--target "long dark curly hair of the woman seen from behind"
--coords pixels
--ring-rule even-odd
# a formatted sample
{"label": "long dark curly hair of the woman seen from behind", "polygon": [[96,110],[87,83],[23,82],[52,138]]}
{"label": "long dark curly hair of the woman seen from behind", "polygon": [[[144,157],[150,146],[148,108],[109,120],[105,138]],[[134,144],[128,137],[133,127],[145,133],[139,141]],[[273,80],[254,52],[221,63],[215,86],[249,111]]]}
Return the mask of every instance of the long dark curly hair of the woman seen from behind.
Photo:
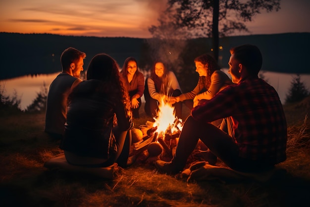
{"label": "long dark curly hair of the woman seen from behind", "polygon": [[103,82],[102,90],[113,92],[113,100],[122,99],[128,115],[131,114],[128,91],[120,80],[119,67],[116,61],[104,53],[96,55],[87,69],[87,80],[97,79]]}

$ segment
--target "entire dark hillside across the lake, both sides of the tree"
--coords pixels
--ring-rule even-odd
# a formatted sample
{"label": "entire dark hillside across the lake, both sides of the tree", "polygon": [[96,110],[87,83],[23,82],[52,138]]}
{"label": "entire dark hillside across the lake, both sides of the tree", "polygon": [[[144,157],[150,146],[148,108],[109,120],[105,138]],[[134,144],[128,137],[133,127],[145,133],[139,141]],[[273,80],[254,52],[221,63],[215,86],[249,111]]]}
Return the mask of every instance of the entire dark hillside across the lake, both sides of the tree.
{"label": "entire dark hillside across the lake, both sides of the tree", "polygon": [[[210,38],[198,39],[211,45]],[[67,47],[75,47],[86,53],[84,69],[92,57],[107,53],[120,67],[124,60],[133,56],[142,61],[146,39],[126,37],[81,37],[52,34],[0,33],[0,79],[26,74],[61,71],[60,55]],[[241,44],[257,45],[263,55],[263,70],[310,73],[310,33],[285,33],[274,35],[233,36],[220,39],[223,49],[219,52],[220,65],[228,67],[229,49]],[[144,50],[143,50],[144,48]],[[205,48],[210,51],[211,48]],[[185,51],[188,53],[189,51]],[[196,56],[196,55],[195,55]],[[188,54],[188,57],[191,57]],[[192,58],[191,58],[192,59]],[[146,60],[145,60],[146,61]],[[144,61],[144,62],[145,62]],[[189,60],[192,62],[193,60]]]}

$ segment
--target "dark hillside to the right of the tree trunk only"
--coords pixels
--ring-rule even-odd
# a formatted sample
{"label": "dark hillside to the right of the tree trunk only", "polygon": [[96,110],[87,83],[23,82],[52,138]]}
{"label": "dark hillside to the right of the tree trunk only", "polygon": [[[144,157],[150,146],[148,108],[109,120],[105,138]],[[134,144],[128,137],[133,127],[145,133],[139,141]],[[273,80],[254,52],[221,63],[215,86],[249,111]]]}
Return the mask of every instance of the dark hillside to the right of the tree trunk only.
{"label": "dark hillside to the right of the tree trunk only", "polygon": [[257,45],[262,53],[262,70],[310,73],[310,33],[235,36],[220,39],[224,49],[222,65],[227,65],[229,49],[242,44]]}

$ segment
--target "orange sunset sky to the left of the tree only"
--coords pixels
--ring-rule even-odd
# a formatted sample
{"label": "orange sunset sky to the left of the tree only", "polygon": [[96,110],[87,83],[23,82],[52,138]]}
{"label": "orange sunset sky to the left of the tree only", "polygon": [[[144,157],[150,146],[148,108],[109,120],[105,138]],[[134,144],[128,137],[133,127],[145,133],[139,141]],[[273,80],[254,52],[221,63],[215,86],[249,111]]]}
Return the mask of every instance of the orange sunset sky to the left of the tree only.
{"label": "orange sunset sky to the left of the tree only", "polygon": [[[156,4],[165,3],[158,0]],[[1,2],[0,32],[150,38],[158,10],[151,1]]]}

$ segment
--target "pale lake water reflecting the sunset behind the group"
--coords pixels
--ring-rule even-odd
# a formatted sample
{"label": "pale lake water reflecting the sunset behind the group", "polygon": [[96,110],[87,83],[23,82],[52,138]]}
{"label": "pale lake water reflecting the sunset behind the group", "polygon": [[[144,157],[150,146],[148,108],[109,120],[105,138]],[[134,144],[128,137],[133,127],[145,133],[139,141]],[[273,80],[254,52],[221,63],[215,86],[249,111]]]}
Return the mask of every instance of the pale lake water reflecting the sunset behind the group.
{"label": "pale lake water reflecting the sunset behind the group", "polygon": [[[222,69],[228,74],[227,69]],[[5,95],[12,96],[14,91],[17,93],[17,97],[21,99],[20,107],[22,110],[26,109],[33,100],[36,98],[37,93],[41,91],[45,82],[49,88],[52,80],[59,74],[59,72],[52,74],[42,74],[37,76],[25,75],[21,77],[0,80],[0,89]],[[291,86],[293,77],[296,77],[294,73],[280,73],[261,71],[263,79],[265,79],[270,85],[272,85],[278,92],[282,103],[285,103],[285,97],[288,93],[288,89]],[[231,77],[228,74],[229,77]],[[310,74],[301,74],[301,81],[305,83],[306,87],[310,89]]]}

